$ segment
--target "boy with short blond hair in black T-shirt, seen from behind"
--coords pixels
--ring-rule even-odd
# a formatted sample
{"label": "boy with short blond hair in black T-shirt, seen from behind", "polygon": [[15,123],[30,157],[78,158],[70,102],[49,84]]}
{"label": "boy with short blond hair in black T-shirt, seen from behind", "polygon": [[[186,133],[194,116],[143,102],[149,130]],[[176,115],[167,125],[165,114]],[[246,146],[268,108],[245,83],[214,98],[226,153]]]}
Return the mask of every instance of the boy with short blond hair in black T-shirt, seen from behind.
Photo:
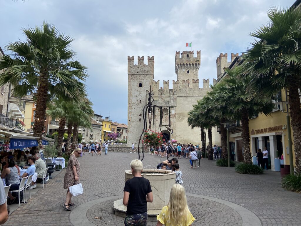
{"label": "boy with short blond hair in black T-shirt, seen from behind", "polygon": [[132,160],[133,178],[126,181],[123,189],[123,205],[126,206],[125,226],[147,225],[147,202],[153,202],[153,193],[149,180],[141,176],[141,160]]}

